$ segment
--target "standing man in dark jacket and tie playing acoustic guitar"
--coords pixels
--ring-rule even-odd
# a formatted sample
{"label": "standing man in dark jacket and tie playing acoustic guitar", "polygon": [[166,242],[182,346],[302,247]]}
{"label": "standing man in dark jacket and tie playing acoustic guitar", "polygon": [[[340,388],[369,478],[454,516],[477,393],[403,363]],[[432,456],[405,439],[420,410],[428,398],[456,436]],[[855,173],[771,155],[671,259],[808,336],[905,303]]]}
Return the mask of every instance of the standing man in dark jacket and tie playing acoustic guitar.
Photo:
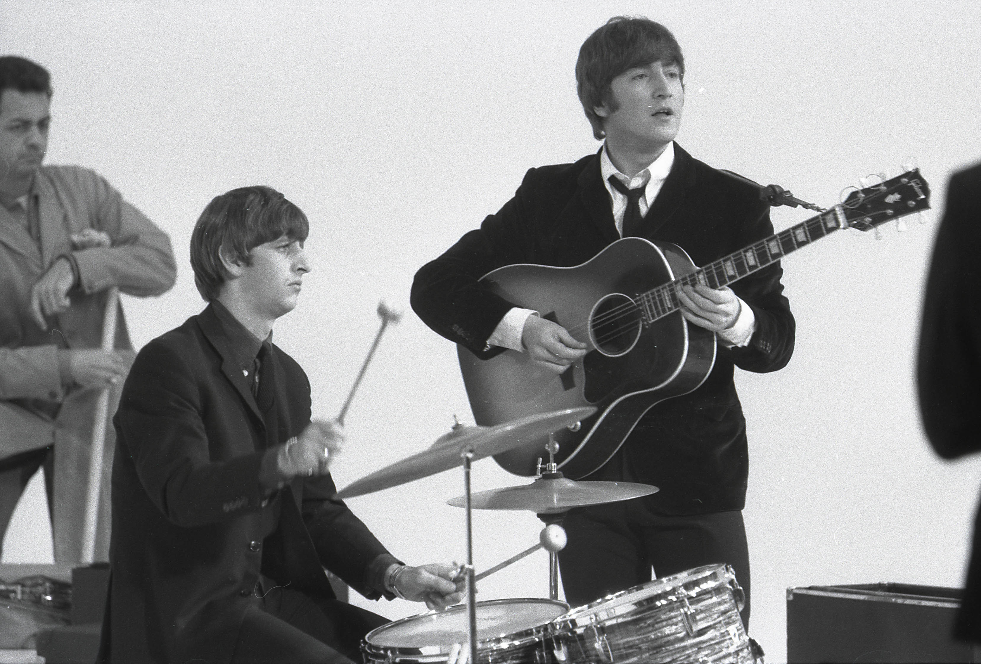
{"label": "standing man in dark jacket and tie playing acoustic guitar", "polygon": [[[553,376],[547,380],[556,385],[568,381],[562,383],[565,389],[575,387],[576,372],[588,370],[591,357],[619,353],[621,365],[635,372],[646,371],[638,369],[642,360],[654,366],[658,353],[667,353],[666,344],[642,349],[637,341],[626,354],[600,349],[596,329],[548,320],[556,318],[550,310],[525,308],[528,303],[509,300],[481,278],[514,264],[580,266],[628,236],[676,244],[696,265],[705,265],[770,235],[769,206],[756,188],[693,159],[673,142],[685,99],[684,75],[681,49],[664,26],[616,17],[597,29],[580,50],[576,78],[602,148],[574,164],[530,170],[499,212],[424,266],[412,288],[420,318],[482,360],[507,353],[519,361],[524,357],[540,375]],[[589,475],[656,485],[660,491],[569,512],[564,523],[569,542],[560,565],[571,605],[645,583],[651,568],[663,577],[728,563],[746,590],[742,617],[749,624],[742,514],[749,465],[733,368],[771,372],[790,360],[795,323],[782,295],[782,274],[779,262],[773,262],[732,288],[697,283],[671,295],[688,324],[677,312],[664,320],[683,331],[683,353],[706,355],[691,363],[700,363],[705,376],[684,392],[668,394],[674,398],[652,399],[625,430],[625,441],[612,441],[615,453]],[[710,345],[695,343],[699,335]],[[585,375],[589,382],[589,371]],[[631,387],[618,389],[611,393]],[[609,442],[597,435],[589,444]]]}

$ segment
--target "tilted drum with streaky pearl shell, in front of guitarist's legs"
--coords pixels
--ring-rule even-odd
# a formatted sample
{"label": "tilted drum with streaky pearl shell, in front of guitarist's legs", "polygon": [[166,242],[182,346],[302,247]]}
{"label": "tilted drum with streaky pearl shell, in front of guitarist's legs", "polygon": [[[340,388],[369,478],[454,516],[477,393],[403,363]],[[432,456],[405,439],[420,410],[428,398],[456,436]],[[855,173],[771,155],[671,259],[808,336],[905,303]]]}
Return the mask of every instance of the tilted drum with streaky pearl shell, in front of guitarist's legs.
{"label": "tilted drum with streaky pearl shell, in front of guitarist's legs", "polygon": [[557,618],[554,655],[568,664],[752,664],[756,660],[739,617],[744,596],[728,565],[656,579]]}

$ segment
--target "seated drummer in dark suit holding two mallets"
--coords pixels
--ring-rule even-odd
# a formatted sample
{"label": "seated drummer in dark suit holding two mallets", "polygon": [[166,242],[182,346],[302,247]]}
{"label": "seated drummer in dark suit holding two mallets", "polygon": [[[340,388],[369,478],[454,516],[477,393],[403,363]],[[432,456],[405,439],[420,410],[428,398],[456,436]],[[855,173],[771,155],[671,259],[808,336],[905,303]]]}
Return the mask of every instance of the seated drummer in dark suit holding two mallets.
{"label": "seated drummer in dark suit holding two mallets", "polygon": [[343,662],[387,621],[338,601],[459,601],[448,564],[407,567],[340,500],[343,439],[272,343],[296,305],[306,216],[265,186],[216,197],[191,235],[209,302],[137,354],[114,423],[111,579],[100,661]]}

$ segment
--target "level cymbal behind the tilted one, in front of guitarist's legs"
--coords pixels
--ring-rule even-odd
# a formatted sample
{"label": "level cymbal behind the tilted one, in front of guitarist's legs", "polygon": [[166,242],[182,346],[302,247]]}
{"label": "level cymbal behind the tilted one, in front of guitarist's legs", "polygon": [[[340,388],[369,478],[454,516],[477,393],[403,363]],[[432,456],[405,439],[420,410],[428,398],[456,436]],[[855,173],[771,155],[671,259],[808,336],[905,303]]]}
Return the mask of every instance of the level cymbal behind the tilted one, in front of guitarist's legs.
{"label": "level cymbal behind the tilted one, in front of guitarist's legs", "polygon": [[[540,478],[530,485],[507,486],[479,491],[470,497],[474,509],[529,510],[557,514],[573,507],[630,500],[657,491],[656,486],[632,482],[575,482],[567,478]],[[467,496],[447,500],[453,507],[466,507]]]}

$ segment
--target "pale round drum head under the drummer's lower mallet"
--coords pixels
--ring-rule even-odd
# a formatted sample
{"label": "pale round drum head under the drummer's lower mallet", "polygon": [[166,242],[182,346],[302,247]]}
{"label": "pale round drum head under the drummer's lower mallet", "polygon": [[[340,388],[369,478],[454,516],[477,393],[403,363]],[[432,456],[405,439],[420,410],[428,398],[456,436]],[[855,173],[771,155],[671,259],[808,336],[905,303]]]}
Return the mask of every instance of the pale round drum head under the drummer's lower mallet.
{"label": "pale round drum head under the drummer's lower mallet", "polygon": [[[477,640],[516,636],[562,615],[568,604],[551,599],[495,599],[477,602]],[[365,641],[378,647],[448,651],[453,643],[469,638],[466,604],[442,612],[424,613],[396,620],[372,630]]]}

